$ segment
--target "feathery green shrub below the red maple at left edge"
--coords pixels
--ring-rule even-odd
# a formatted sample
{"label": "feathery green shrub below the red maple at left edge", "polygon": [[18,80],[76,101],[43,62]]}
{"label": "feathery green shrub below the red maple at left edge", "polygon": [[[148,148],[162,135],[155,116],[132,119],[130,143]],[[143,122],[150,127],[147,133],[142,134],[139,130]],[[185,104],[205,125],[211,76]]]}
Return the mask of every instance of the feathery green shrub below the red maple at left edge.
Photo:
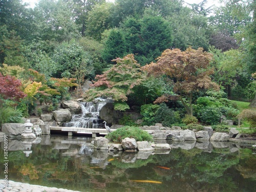
{"label": "feathery green shrub below the red maple at left edge", "polygon": [[0,109],[0,126],[4,123],[23,123],[22,112],[13,108]]}

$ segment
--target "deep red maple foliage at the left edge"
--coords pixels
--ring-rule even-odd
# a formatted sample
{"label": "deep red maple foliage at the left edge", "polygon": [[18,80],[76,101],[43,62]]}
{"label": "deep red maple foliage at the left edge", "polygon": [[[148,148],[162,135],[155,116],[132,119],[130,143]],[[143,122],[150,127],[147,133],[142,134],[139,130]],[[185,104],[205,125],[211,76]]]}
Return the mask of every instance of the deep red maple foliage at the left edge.
{"label": "deep red maple foliage at the left edge", "polygon": [[0,73],[0,99],[19,101],[27,95],[21,90],[22,83],[14,76],[3,76]]}

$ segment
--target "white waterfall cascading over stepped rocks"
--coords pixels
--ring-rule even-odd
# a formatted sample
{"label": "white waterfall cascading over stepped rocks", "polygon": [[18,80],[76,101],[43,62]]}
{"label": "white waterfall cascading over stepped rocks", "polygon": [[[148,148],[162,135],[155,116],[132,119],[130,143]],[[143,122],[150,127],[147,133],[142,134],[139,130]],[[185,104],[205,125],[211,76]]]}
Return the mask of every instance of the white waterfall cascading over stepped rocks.
{"label": "white waterfall cascading over stepped rocks", "polygon": [[66,127],[83,127],[83,128],[103,128],[103,120],[99,118],[99,112],[106,102],[81,102],[82,114],[73,115],[68,123],[64,123]]}

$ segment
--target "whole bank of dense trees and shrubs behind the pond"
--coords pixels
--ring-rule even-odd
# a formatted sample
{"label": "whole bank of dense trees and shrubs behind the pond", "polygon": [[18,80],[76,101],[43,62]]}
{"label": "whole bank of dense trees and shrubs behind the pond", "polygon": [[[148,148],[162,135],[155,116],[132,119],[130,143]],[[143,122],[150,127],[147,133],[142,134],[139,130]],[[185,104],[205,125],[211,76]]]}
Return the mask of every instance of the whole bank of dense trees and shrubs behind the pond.
{"label": "whole bank of dense trees and shrubs behind the pond", "polygon": [[[89,79],[84,97],[113,97],[116,110],[136,109],[148,125],[237,121],[228,99],[256,105],[256,4],[206,2],[1,1],[1,107],[26,116],[39,100],[54,109]],[[226,96],[206,94],[219,88]]]}

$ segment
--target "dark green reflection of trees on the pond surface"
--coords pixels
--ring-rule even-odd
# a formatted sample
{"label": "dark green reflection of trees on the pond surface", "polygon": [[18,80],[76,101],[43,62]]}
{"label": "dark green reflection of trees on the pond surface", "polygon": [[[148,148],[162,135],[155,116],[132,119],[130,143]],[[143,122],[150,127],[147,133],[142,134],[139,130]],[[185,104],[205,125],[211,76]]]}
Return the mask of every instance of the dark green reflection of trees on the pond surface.
{"label": "dark green reflection of trees on the pond surface", "polygon": [[[76,148],[79,146],[71,145],[71,154]],[[178,148],[169,154],[151,155],[148,159],[133,158],[136,153],[127,158],[127,153],[123,153],[120,156],[107,156],[104,159],[106,165],[102,167],[97,163],[92,164],[95,157],[70,156],[68,150],[53,150],[50,145],[33,145],[32,150],[29,157],[23,151],[9,152],[10,179],[19,178],[18,181],[31,184],[43,183],[81,191],[84,186],[87,189],[113,191],[120,188],[139,191],[144,187],[149,191],[165,191],[170,186],[176,191],[199,188],[202,191],[231,191],[237,187],[256,191],[256,186],[252,185],[256,178],[256,156],[248,148],[240,148],[239,152],[233,154],[229,148],[215,149],[211,153],[197,148]],[[125,163],[127,159],[136,160]],[[4,160],[3,151],[0,151],[0,160]],[[3,169],[2,164],[0,168]],[[162,184],[136,183],[132,180],[154,180]]]}

